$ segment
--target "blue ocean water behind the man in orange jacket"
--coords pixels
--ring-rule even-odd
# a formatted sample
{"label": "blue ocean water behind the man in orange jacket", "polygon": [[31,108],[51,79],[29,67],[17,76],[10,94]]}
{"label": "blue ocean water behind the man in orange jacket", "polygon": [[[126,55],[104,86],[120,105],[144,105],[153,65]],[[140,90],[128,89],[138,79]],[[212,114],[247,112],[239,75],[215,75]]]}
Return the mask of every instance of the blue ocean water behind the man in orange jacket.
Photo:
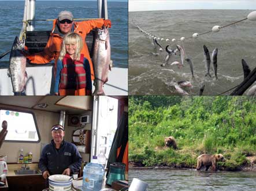
{"label": "blue ocean water behind the man in orange jacket", "polygon": [[[128,67],[128,3],[107,2],[110,28],[111,59],[116,67]],[[54,19],[62,10],[69,10],[75,18],[97,18],[97,1],[36,1],[35,19]],[[24,1],[0,1],[0,54],[12,48],[15,36],[20,35]],[[36,21],[36,30],[51,30],[53,21]],[[8,66],[9,55],[0,60]]]}

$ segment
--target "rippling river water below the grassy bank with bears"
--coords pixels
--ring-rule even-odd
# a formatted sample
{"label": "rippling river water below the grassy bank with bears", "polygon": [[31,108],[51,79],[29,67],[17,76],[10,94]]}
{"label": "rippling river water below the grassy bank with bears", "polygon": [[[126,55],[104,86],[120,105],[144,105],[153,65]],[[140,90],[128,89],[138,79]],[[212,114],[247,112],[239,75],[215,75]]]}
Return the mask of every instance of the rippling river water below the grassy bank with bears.
{"label": "rippling river water below the grassy bank with bears", "polygon": [[201,190],[201,191],[238,191],[255,190],[256,174],[254,172],[227,172],[227,171],[196,171],[129,169],[129,184],[132,178],[149,184],[148,191],[155,190]]}

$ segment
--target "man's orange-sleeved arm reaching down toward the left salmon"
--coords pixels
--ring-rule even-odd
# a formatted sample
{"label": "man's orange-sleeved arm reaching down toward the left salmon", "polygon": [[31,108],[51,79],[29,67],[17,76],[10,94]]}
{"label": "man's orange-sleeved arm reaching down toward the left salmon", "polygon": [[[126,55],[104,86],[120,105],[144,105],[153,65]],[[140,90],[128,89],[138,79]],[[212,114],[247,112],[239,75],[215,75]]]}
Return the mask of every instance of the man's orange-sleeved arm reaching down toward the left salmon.
{"label": "man's orange-sleeved arm reaching down toward the left salmon", "polygon": [[[27,55],[26,58],[32,64],[46,64],[51,62],[55,58],[55,51],[53,51],[54,37],[50,36],[46,44],[46,47],[42,52],[36,54]],[[57,45],[55,45],[57,47]]]}

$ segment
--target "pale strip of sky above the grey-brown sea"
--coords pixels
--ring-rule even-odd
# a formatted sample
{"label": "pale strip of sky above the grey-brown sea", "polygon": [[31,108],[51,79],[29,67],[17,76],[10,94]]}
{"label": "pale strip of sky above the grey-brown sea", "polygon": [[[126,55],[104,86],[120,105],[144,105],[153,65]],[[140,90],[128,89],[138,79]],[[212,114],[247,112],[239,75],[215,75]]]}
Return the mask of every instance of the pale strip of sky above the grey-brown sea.
{"label": "pale strip of sky above the grey-brown sea", "polygon": [[251,9],[256,0],[129,0],[129,12],[184,9]]}

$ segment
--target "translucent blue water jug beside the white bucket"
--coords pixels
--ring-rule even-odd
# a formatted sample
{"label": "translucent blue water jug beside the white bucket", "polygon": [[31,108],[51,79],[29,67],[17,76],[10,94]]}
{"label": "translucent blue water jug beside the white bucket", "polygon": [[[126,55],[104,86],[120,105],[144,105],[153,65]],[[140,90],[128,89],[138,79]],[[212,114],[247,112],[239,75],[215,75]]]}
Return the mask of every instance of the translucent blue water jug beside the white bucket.
{"label": "translucent blue water jug beside the white bucket", "polygon": [[102,187],[104,168],[98,163],[88,163],[83,170],[83,191],[99,191]]}

